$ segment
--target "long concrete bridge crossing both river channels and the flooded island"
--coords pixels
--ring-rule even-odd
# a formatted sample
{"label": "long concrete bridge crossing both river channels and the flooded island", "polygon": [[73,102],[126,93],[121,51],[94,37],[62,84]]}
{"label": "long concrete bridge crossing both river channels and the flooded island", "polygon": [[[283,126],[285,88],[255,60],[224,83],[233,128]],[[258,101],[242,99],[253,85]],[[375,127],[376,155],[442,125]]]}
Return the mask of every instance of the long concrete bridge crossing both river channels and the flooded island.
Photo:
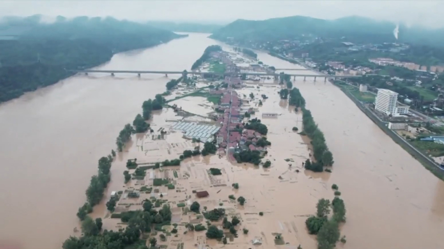
{"label": "long concrete bridge crossing both river channels and the flooded island", "polygon": [[[304,69],[306,70],[306,69]],[[282,74],[275,73],[275,72],[196,72],[196,71],[135,71],[135,70],[94,70],[94,69],[84,69],[84,70],[68,70],[72,72],[79,72],[79,73],[85,73],[86,75],[88,73],[110,73],[112,76],[114,76],[116,73],[137,73],[140,77],[142,73],[158,73],[158,74],[165,74],[166,77],[168,77],[168,74],[191,74],[191,75],[201,75],[201,76],[240,76],[242,74],[246,76],[273,76],[273,77],[279,77]],[[296,77],[304,77],[304,80],[306,77],[308,78],[324,78],[324,81],[327,80],[327,78],[334,78],[334,79],[340,79],[340,78],[357,78],[361,76],[347,76],[347,75],[329,75],[329,74],[303,74],[303,73],[285,73],[290,77],[293,77],[296,79]]]}

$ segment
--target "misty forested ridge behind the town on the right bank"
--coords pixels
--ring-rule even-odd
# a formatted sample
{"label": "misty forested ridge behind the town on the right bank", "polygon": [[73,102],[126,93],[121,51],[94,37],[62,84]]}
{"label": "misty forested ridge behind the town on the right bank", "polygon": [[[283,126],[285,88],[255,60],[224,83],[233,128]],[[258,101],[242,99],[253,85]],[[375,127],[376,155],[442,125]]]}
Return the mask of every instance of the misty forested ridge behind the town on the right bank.
{"label": "misty forested ridge behind the town on the right bank", "polygon": [[[395,42],[395,23],[350,16],[324,20],[306,16],[273,18],[262,21],[236,20],[216,30],[211,38],[226,41],[229,37],[242,41],[270,41],[305,37],[344,38],[356,43]],[[399,41],[441,44],[444,30],[399,27]],[[231,39],[231,38],[230,38]]]}

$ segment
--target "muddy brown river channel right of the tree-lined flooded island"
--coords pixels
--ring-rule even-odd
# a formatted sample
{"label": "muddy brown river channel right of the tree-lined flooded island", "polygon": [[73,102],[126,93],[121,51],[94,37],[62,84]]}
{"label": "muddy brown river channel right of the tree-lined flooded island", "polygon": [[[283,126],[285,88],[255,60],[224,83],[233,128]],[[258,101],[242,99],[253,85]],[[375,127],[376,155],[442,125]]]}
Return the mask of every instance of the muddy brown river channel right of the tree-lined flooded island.
{"label": "muddy brown river channel right of the tree-lined flooded island", "polygon": [[[276,68],[298,68],[264,53],[258,57]],[[306,99],[335,158],[325,183],[338,184],[347,208],[341,230],[347,236],[344,247],[444,247],[440,239],[444,182],[379,129],[339,88],[322,78],[316,83],[296,78],[294,86]]]}

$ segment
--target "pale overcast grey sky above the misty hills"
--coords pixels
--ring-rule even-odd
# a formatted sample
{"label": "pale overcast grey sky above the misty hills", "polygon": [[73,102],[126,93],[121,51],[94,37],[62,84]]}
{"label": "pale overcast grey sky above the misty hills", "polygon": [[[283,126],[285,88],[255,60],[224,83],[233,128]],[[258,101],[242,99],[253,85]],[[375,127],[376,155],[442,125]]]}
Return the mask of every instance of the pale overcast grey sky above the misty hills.
{"label": "pale overcast grey sky above the misty hills", "polygon": [[0,16],[113,16],[118,19],[224,21],[305,15],[324,19],[360,15],[444,27],[444,1],[0,1]]}

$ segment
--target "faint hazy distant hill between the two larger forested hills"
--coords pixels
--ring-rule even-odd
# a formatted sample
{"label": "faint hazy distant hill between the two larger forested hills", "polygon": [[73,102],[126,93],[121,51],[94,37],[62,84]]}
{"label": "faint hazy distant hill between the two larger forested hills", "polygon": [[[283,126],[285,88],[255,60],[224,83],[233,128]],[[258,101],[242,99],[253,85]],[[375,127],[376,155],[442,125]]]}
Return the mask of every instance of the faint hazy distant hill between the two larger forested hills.
{"label": "faint hazy distant hill between the two larger forested hills", "polygon": [[176,32],[197,32],[213,33],[223,26],[218,24],[192,23],[192,22],[171,22],[171,21],[149,21],[152,27]]}

